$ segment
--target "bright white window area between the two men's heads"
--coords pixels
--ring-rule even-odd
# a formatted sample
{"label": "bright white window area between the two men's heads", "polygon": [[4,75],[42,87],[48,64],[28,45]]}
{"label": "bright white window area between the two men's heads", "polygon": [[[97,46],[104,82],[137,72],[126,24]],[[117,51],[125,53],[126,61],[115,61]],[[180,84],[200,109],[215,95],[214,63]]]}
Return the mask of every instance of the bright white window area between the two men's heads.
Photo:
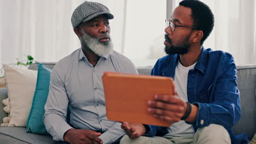
{"label": "bright white window area between the two men's heads", "polygon": [[114,15],[110,20],[114,49],[136,66],[154,65],[165,56],[166,1],[98,1]]}

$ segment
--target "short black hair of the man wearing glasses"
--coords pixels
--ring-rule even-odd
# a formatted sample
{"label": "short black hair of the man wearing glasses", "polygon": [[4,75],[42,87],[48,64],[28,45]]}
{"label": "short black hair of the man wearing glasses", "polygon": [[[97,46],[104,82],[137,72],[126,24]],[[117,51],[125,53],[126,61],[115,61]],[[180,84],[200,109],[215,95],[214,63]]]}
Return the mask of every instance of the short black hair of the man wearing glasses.
{"label": "short black hair of the man wearing glasses", "polygon": [[183,0],[179,3],[183,7],[190,8],[192,11],[191,17],[193,18],[193,25],[197,30],[203,32],[201,45],[203,41],[210,35],[214,26],[214,16],[212,10],[203,2],[198,0]]}

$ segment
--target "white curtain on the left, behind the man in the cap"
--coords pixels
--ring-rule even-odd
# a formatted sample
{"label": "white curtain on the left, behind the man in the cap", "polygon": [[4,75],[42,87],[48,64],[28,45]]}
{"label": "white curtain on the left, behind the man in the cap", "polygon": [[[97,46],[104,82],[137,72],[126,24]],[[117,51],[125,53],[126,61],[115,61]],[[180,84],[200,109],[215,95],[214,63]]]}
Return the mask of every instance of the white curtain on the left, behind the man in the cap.
{"label": "white curtain on the left, behind the man in the cap", "polygon": [[[26,55],[40,62],[56,62],[78,49],[80,42],[73,32],[71,15],[83,2],[0,0],[0,63],[15,63],[16,58],[26,60]],[[113,20],[113,39],[121,41],[124,1],[96,2],[104,3],[114,13],[119,11]]]}

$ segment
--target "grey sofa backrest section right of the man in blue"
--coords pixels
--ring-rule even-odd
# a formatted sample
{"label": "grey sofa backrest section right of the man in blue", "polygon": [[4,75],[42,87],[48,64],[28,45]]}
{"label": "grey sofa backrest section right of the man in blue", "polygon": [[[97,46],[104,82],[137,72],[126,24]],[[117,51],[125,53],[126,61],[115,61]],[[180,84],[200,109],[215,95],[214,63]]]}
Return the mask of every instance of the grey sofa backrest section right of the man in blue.
{"label": "grey sofa backrest section right of the man in blue", "polygon": [[236,135],[245,133],[248,139],[252,139],[256,133],[256,65],[239,65],[237,84],[240,90],[241,118],[232,129]]}

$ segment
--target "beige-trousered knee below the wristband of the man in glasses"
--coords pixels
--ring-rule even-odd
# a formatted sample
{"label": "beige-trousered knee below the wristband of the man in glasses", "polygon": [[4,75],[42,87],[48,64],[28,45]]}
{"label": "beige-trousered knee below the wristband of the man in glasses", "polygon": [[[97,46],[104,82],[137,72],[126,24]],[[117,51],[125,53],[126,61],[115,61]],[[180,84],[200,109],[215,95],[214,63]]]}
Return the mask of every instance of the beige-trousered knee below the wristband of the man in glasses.
{"label": "beige-trousered knee below the wristband of the man in glasses", "polygon": [[223,143],[231,143],[228,130],[222,125],[210,124],[208,127],[199,128],[197,132],[197,135],[199,136],[198,140],[203,140],[205,142],[222,141]]}

